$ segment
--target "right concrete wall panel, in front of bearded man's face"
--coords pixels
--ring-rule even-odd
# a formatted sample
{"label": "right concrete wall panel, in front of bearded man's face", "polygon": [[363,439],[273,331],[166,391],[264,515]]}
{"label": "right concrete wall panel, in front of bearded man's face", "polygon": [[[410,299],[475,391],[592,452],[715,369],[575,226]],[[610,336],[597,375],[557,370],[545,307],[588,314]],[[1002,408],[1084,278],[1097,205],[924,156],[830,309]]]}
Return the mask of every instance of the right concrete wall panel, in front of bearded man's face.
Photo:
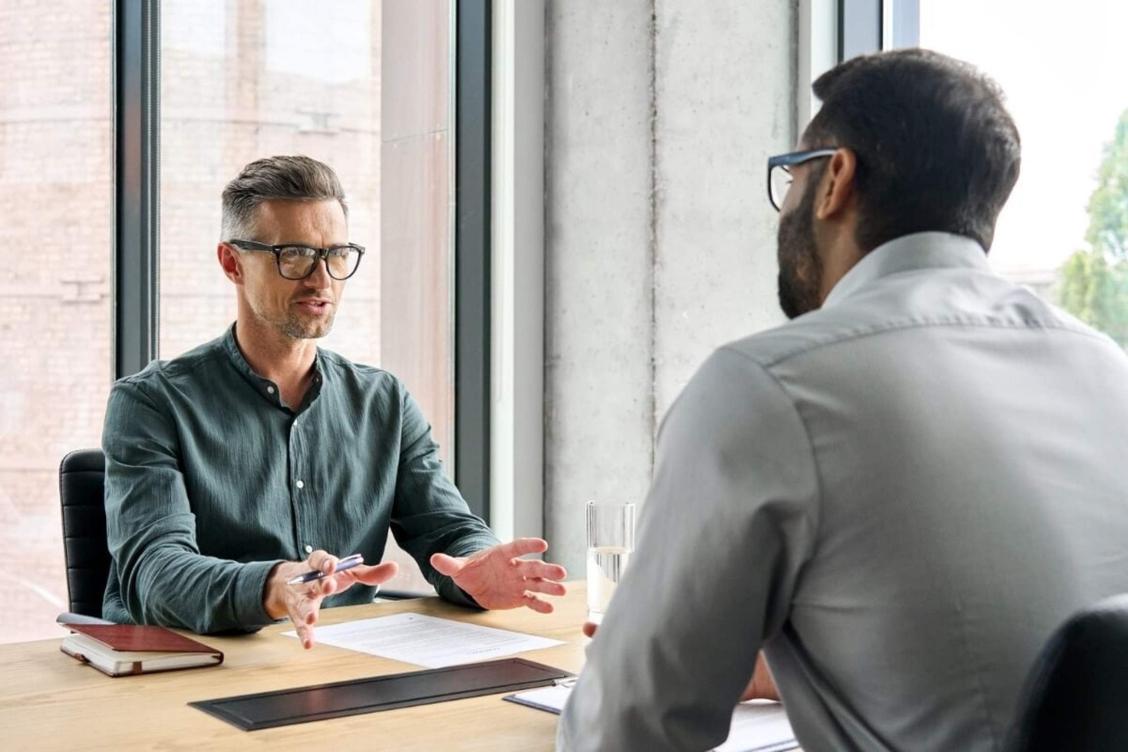
{"label": "right concrete wall panel, in front of bearded man's face", "polygon": [[716,347],[784,320],[765,163],[794,141],[794,5],[655,2],[659,422]]}

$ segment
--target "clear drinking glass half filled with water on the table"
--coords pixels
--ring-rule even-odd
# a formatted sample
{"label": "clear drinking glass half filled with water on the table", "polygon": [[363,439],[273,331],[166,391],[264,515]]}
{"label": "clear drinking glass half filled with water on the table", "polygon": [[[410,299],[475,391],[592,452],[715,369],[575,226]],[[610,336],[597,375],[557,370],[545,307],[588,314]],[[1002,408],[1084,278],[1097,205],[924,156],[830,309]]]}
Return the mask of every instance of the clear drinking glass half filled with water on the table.
{"label": "clear drinking glass half filled with water on the table", "polygon": [[634,550],[632,502],[588,502],[588,621],[600,623]]}

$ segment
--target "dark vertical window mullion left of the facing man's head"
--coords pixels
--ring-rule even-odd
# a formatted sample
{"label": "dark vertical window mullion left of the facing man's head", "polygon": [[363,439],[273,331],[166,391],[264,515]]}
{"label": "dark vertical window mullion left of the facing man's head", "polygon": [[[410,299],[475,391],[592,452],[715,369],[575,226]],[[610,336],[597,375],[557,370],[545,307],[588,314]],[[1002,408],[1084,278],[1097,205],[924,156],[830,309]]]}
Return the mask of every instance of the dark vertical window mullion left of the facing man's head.
{"label": "dark vertical window mullion left of the facing man's head", "polygon": [[114,374],[157,357],[160,6],[114,2]]}

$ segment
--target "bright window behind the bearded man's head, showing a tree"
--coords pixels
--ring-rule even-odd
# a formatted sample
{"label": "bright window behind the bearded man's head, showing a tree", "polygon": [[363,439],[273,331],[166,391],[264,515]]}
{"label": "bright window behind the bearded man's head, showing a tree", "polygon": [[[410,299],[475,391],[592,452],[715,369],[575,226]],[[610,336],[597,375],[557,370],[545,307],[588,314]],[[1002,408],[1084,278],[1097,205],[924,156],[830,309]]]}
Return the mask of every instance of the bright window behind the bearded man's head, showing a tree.
{"label": "bright window behind the bearded man's head, showing a tree", "polygon": [[1123,0],[920,0],[920,46],[994,77],[1022,136],[1022,175],[999,216],[993,266],[1122,346],[1128,346],[1126,28]]}

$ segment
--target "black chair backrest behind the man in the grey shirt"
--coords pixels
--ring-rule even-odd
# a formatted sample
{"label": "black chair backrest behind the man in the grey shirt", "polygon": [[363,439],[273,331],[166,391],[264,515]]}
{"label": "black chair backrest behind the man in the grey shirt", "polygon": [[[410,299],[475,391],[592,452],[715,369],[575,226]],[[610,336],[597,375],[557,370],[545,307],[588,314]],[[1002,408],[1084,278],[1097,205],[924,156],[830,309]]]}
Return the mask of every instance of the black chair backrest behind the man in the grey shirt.
{"label": "black chair backrest behind the man in the grey shirt", "polygon": [[1128,595],[1066,621],[1026,678],[1011,752],[1128,749]]}

